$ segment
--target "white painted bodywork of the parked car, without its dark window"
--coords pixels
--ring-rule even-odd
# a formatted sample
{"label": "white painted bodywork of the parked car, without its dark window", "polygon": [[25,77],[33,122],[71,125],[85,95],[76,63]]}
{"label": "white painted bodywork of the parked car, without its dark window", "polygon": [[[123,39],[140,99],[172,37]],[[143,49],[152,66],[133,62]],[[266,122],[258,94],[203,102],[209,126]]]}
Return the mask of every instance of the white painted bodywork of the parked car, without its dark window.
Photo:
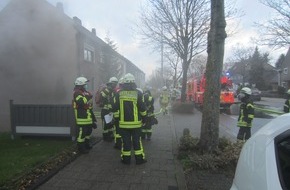
{"label": "white painted bodywork of the parked car, without its dark window", "polygon": [[282,189],[278,177],[274,139],[290,129],[290,114],[273,119],[243,146],[231,190]]}

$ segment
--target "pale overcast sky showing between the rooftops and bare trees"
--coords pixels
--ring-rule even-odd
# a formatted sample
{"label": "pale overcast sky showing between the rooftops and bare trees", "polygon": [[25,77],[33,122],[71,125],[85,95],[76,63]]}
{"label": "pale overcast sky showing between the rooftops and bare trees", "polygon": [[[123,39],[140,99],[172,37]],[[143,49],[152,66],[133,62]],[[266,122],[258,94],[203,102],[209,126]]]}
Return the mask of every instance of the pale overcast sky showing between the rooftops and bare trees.
{"label": "pale overcast sky showing between the rooftops and bare trees", "polygon": [[[9,0],[0,0],[0,8],[3,8]],[[117,44],[117,51],[136,64],[146,75],[152,70],[160,68],[160,53],[152,53],[148,47],[144,47],[133,32],[133,23],[136,23],[141,11],[140,5],[146,0],[47,0],[52,5],[62,2],[65,13],[77,16],[88,30],[96,28],[97,36],[104,39],[107,34]],[[268,20],[273,17],[273,10],[259,3],[259,0],[233,0],[236,8],[244,12],[240,18],[239,30],[235,36],[226,39],[225,58],[231,56],[231,49],[237,44],[253,47],[255,44],[251,37],[257,37],[254,22]],[[272,63],[280,54],[286,54],[287,49],[271,50],[267,47],[259,47],[262,53],[269,52]]]}

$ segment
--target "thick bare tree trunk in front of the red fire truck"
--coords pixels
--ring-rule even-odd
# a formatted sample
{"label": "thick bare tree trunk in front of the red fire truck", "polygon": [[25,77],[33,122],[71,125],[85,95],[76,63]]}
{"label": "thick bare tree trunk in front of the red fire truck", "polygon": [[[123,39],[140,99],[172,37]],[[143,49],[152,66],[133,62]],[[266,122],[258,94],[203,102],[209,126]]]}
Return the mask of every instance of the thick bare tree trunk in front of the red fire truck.
{"label": "thick bare tree trunk in front of the red fire truck", "polygon": [[208,33],[206,88],[201,123],[200,148],[214,152],[219,143],[220,77],[226,38],[224,0],[211,0],[211,23]]}

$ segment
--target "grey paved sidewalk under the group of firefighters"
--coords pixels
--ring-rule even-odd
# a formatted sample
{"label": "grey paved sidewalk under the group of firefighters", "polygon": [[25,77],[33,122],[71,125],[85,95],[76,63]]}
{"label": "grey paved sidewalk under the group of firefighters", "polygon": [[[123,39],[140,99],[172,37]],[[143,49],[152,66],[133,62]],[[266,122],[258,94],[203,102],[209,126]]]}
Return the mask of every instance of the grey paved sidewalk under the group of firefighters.
{"label": "grey paved sidewalk under the group of firefighters", "polygon": [[172,115],[159,115],[158,121],[151,141],[143,141],[147,163],[135,165],[133,153],[131,165],[123,165],[120,150],[113,148],[113,142],[101,141],[38,189],[185,190],[182,166],[176,158]]}

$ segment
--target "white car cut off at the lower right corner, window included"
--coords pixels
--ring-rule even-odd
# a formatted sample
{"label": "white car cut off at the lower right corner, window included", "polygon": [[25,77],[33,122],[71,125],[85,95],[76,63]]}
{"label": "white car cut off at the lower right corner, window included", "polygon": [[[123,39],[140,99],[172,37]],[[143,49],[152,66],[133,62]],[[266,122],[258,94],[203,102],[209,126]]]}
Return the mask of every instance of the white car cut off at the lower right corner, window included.
{"label": "white car cut off at the lower right corner, window included", "polygon": [[290,189],[290,113],[281,115],[243,146],[231,190]]}

